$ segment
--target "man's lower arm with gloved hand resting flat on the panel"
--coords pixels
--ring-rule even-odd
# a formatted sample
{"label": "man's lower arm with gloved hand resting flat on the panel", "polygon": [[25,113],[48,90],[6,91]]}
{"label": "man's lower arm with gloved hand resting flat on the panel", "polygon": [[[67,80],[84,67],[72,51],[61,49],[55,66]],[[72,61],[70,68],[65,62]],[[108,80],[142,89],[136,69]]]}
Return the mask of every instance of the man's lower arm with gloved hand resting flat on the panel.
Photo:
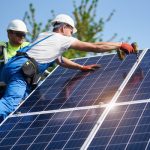
{"label": "man's lower arm with gloved hand resting flat on the panel", "polygon": [[56,60],[56,63],[65,68],[77,69],[77,70],[81,70],[81,71],[91,71],[91,70],[95,70],[96,68],[100,67],[100,65],[98,65],[98,64],[92,64],[92,65],[86,65],[86,66],[80,65],[80,64],[75,63],[75,62],[69,60],[68,58],[65,58],[62,56]]}

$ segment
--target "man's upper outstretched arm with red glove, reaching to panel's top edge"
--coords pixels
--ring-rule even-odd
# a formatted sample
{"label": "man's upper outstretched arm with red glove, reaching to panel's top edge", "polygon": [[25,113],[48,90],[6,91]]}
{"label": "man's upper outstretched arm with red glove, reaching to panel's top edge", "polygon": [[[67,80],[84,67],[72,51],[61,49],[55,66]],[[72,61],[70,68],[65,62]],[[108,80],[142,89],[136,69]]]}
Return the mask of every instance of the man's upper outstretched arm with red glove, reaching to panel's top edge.
{"label": "man's upper outstretched arm with red glove, reaching to panel's top edge", "polygon": [[133,47],[128,43],[120,43],[120,42],[96,42],[96,43],[89,43],[89,42],[82,42],[80,40],[74,41],[70,48],[87,51],[87,52],[109,52],[112,50],[123,50],[128,53],[134,52]]}

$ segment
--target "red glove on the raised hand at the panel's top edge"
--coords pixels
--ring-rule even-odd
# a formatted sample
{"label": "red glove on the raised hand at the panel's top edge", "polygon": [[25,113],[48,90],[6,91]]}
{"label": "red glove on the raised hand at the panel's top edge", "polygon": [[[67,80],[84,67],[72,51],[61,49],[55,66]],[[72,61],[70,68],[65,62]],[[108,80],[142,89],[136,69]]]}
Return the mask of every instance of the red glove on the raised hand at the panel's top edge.
{"label": "red glove on the raised hand at the panel's top edge", "polygon": [[124,51],[126,54],[135,53],[135,49],[132,45],[128,43],[122,43],[120,46],[120,50]]}

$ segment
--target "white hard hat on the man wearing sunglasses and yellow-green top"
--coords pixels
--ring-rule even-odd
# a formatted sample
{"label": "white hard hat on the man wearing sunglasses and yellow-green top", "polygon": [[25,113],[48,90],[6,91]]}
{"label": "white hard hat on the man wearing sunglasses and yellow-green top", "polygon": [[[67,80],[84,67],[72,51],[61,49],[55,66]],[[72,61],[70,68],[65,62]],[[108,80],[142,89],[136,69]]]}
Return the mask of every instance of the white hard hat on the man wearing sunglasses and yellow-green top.
{"label": "white hard hat on the man wearing sunglasses and yellow-green top", "polygon": [[9,23],[7,30],[21,31],[21,32],[25,32],[25,33],[28,32],[25,23],[19,19],[12,20]]}

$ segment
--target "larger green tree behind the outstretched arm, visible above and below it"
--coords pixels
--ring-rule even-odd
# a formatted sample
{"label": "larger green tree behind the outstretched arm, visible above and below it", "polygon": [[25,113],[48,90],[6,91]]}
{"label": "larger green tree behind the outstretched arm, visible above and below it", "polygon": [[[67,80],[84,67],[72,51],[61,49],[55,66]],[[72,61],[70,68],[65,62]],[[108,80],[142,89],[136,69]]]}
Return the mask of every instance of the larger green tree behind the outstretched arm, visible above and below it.
{"label": "larger green tree behind the outstretched arm, visible above and below it", "polygon": [[[77,6],[76,1],[73,1],[74,11],[73,16],[75,18],[77,34],[76,37],[85,42],[96,42],[102,41],[101,32],[104,29],[106,22],[111,20],[115,11],[112,11],[106,21],[101,17],[99,20],[96,19],[96,12],[99,0],[82,0]],[[86,52],[69,50],[64,53],[65,57],[84,57]]]}

